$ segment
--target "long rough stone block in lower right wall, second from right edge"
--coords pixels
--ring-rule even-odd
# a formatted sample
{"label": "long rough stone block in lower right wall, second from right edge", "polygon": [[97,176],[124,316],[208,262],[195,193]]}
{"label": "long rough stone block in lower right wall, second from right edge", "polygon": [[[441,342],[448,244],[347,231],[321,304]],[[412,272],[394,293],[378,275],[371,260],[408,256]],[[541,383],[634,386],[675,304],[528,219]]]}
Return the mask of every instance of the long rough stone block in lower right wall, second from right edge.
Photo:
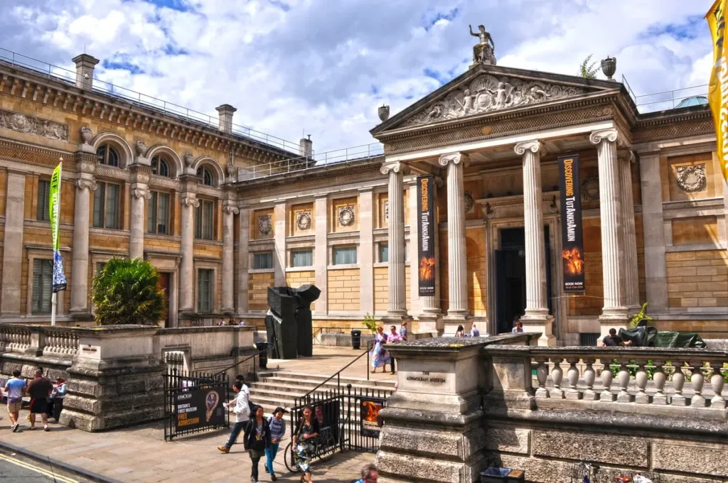
{"label": "long rough stone block in lower right wall, second from right edge", "polygon": [[647,439],[603,436],[571,431],[534,431],[533,454],[550,458],[612,463],[633,468],[649,466]]}

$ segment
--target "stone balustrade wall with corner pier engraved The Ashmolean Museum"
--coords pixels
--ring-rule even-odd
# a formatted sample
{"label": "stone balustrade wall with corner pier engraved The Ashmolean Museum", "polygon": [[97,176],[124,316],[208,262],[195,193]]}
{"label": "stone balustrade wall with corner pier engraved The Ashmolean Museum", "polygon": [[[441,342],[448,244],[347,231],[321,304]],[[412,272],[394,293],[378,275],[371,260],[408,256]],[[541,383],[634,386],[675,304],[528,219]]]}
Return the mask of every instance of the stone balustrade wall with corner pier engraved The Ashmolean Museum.
{"label": "stone balustrade wall with corner pier engraved The Ashmolean Museum", "polygon": [[539,334],[390,346],[399,388],[381,411],[384,482],[479,482],[487,466],[562,483],[728,478],[725,351],[536,347]]}

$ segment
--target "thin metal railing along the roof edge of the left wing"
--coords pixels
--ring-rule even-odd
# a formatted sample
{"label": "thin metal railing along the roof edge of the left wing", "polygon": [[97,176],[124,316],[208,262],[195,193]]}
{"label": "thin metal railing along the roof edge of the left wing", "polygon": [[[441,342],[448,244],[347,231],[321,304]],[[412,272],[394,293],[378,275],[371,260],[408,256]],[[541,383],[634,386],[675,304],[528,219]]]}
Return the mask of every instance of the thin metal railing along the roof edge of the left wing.
{"label": "thin metal railing along the roof edge of the left wing", "polygon": [[[76,82],[75,71],[71,71],[67,68],[59,67],[58,65],[53,65],[42,60],[37,60],[33,57],[28,57],[27,55],[19,54],[2,47],[0,47],[0,63],[8,63],[13,67],[17,65],[19,67],[27,68],[43,76],[47,76],[48,79],[56,79],[71,84],[75,84]],[[113,97],[121,97],[124,100],[138,105],[158,109],[167,115],[181,116],[184,119],[207,124],[210,127],[219,126],[219,118],[216,116],[210,116],[210,114],[194,111],[194,109],[186,108],[183,105],[170,103],[166,100],[159,99],[158,97],[146,95],[142,92],[127,89],[126,87],[117,86],[116,84],[102,81],[96,76],[93,78],[91,90],[95,92],[103,92],[104,94],[111,95]],[[285,151],[298,151],[297,143],[292,143],[282,137],[256,131],[256,129],[251,129],[250,127],[242,126],[240,124],[232,124],[232,128],[233,134],[239,135],[240,137],[248,137],[251,140],[257,140],[261,143],[279,146]]]}

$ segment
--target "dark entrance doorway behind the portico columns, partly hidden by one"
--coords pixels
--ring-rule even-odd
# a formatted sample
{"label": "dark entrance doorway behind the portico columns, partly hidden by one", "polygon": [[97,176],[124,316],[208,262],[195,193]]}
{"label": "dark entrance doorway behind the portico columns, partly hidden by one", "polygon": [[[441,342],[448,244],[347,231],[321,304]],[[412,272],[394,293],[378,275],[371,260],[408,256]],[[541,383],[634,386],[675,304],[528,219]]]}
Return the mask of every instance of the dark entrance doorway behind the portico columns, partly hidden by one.
{"label": "dark entrance doorway behind the portico columns, partly hidden by one", "polygon": [[[501,249],[496,250],[496,327],[510,332],[513,319],[526,311],[526,232],[523,228],[501,230]],[[551,313],[551,246],[544,226],[546,300]]]}

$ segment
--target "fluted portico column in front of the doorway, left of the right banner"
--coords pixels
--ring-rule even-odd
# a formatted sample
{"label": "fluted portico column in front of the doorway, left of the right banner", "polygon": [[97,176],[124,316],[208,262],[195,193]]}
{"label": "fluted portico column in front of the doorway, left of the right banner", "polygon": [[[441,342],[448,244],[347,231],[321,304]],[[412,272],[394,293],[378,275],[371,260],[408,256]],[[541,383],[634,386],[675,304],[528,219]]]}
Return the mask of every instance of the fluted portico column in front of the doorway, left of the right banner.
{"label": "fluted portico column in front of the doorway, left of the right banner", "polygon": [[523,231],[526,236],[526,311],[521,322],[526,332],[541,332],[539,346],[555,345],[551,331],[553,317],[546,298],[546,256],[541,195],[541,153],[539,141],[515,145],[523,157]]}

